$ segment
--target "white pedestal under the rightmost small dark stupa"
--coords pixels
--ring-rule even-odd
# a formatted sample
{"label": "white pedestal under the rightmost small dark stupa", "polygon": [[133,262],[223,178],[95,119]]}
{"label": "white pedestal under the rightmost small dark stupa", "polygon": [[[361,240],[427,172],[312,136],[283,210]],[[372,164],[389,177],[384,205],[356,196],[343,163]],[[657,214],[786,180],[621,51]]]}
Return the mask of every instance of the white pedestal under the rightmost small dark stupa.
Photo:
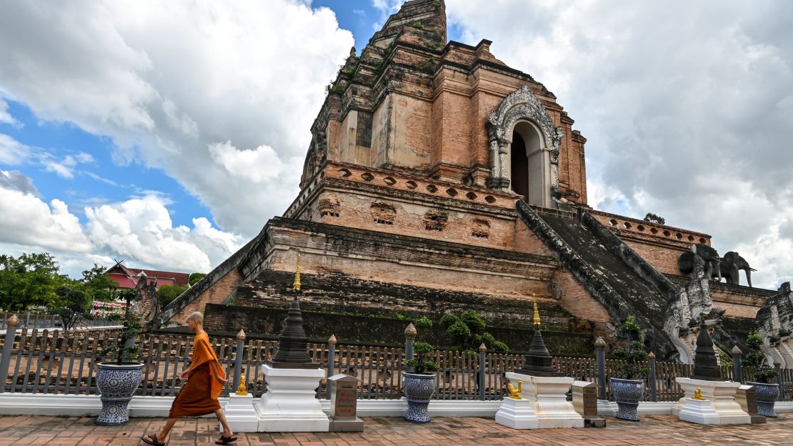
{"label": "white pedestal under the rightmost small dark stupa", "polygon": [[[752,417],[749,417],[749,413],[745,413],[743,409],[741,409],[741,405],[735,401],[735,392],[738,390],[738,387],[741,386],[741,383],[734,383],[732,381],[706,381],[704,379],[691,378],[676,378],[675,381],[680,384],[680,388],[683,389],[685,396],[680,398],[677,404],[672,408],[673,415],[680,417],[680,413],[684,407],[687,404],[691,406],[688,400],[694,398],[694,392],[699,388],[702,392],[702,398],[711,404],[711,407],[718,416],[718,423],[707,424],[748,425],[752,422]],[[682,420],[683,418],[680,417],[680,419]]]}

